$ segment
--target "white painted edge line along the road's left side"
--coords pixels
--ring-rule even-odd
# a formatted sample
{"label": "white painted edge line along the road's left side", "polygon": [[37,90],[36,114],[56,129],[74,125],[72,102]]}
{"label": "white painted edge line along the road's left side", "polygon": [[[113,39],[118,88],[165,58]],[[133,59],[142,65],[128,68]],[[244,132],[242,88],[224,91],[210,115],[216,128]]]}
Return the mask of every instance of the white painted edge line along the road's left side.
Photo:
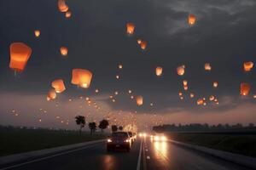
{"label": "white painted edge line along the road's left side", "polygon": [[38,159],[35,159],[35,160],[32,160],[32,161],[26,161],[24,163],[19,163],[19,164],[13,165],[13,166],[3,167],[0,170],[10,169],[10,168],[14,168],[14,167],[20,167],[20,166],[23,166],[23,165],[26,165],[26,164],[37,162],[37,161],[43,161],[43,160],[46,160],[46,159],[49,159],[49,158],[52,158],[52,157],[55,157],[55,156],[62,156],[62,155],[68,154],[68,153],[78,151],[78,150],[84,150],[84,149],[90,148],[90,147],[95,146],[95,145],[97,145],[97,144],[90,144],[88,146],[84,146],[83,148],[79,148],[79,149],[76,149],[76,150],[69,150],[69,151],[61,152],[59,154],[55,154],[53,156],[46,156],[46,157],[38,158]]}

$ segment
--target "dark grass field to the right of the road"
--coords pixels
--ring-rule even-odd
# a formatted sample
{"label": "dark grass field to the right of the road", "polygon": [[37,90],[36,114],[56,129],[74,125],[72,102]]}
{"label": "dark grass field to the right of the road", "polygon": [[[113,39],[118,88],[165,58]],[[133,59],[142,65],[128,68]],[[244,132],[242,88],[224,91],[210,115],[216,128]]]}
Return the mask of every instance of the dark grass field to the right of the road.
{"label": "dark grass field to the right of the road", "polygon": [[169,133],[170,139],[256,157],[256,135],[214,133]]}

